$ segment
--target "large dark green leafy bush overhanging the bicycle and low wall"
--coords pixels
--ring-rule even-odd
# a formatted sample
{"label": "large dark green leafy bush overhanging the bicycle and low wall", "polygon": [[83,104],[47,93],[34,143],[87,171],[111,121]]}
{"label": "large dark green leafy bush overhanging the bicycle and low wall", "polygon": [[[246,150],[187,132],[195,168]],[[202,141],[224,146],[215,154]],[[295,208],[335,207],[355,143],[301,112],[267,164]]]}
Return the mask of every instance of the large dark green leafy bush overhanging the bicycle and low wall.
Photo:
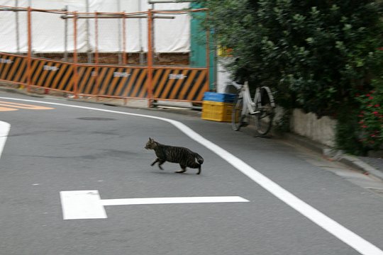
{"label": "large dark green leafy bush overhanging the bicycle and low wall", "polygon": [[[382,1],[199,3],[209,8],[205,26],[214,31],[217,44],[233,49],[236,61],[228,69],[250,86],[271,86],[284,108],[339,118],[344,106],[361,106],[355,94],[374,89],[372,79],[382,77]],[[354,122],[355,114],[344,120]],[[355,136],[343,138],[355,142]]]}

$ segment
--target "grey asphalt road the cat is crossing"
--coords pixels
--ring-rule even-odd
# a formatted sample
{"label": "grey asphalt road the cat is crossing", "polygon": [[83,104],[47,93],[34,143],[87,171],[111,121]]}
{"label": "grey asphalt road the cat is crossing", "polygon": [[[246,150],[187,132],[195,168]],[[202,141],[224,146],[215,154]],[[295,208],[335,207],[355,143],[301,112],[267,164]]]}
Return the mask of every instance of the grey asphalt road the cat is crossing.
{"label": "grey asphalt road the cat is crossing", "polygon": [[[11,125],[0,159],[1,255],[383,254],[383,197],[286,142],[186,115],[3,92],[0,120]],[[148,137],[201,154],[201,175],[150,166]],[[87,199],[66,204],[65,191]],[[233,196],[248,202],[199,203]],[[181,203],[129,200],[174,197]]]}

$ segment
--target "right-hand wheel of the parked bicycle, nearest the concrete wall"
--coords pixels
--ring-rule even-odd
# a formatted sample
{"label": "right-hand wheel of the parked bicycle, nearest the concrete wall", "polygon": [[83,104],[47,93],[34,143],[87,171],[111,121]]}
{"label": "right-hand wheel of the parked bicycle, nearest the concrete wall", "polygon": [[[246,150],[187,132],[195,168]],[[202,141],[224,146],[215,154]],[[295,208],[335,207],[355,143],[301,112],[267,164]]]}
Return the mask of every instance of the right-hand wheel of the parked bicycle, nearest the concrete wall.
{"label": "right-hand wheel of the parked bicycle, nearest the concrete wall", "polygon": [[255,102],[256,112],[254,115],[255,128],[258,135],[267,135],[272,128],[272,120],[274,118],[274,107],[272,106],[273,99],[270,98],[266,89],[261,89],[260,96]]}

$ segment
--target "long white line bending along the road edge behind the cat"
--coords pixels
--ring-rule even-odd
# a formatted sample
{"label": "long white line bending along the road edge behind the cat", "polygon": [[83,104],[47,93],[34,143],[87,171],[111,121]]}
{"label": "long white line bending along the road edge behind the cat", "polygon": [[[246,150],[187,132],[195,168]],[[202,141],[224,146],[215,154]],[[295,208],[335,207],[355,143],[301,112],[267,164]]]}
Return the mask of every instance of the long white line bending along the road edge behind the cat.
{"label": "long white line bending along the road edge behind the cat", "polygon": [[[0,98],[4,98],[4,97],[0,97]],[[35,103],[45,103],[45,104],[50,104],[55,106],[82,108],[87,110],[102,111],[105,113],[117,113],[117,114],[124,114],[124,115],[140,116],[145,118],[163,120],[163,121],[166,121],[167,123],[171,123],[172,125],[177,127],[179,130],[184,132],[185,135],[189,136],[191,139],[195,140],[196,142],[199,142],[201,145],[204,145],[204,147],[211,149],[212,152],[216,153],[219,157],[226,160],[226,162],[233,165],[236,169],[238,169],[243,174],[248,176],[250,179],[258,183],[260,186],[265,188],[274,196],[282,200],[284,203],[287,203],[287,205],[291,206],[296,211],[300,212],[302,215],[307,217],[312,222],[316,223],[316,225],[322,227],[327,232],[333,234],[335,237],[345,242],[345,244],[348,244],[349,246],[353,247],[353,249],[358,251],[360,254],[383,255],[383,251],[379,249],[377,246],[375,246],[374,244],[367,242],[367,240],[358,236],[357,234],[350,231],[349,229],[343,227],[338,222],[335,222],[335,220],[324,215],[322,212],[316,210],[316,208],[313,208],[311,205],[297,198],[292,193],[290,193],[289,191],[279,186],[277,183],[274,183],[274,181],[268,179],[266,176],[264,176],[257,170],[253,169],[251,166],[243,162],[241,159],[238,159],[238,157],[235,157],[233,154],[231,154],[230,152],[227,152],[225,149],[222,149],[218,145],[213,144],[213,142],[206,140],[204,137],[194,132],[194,130],[191,130],[191,128],[189,128],[187,125],[184,125],[177,120],[171,120],[167,118],[160,118],[160,117],[143,115],[143,114],[110,111],[110,110],[84,107],[84,106],[72,106],[72,105],[67,105],[65,103],[50,103],[50,102],[44,102],[44,101],[33,101],[33,100],[18,99],[18,98],[4,98],[4,99],[35,102]]]}

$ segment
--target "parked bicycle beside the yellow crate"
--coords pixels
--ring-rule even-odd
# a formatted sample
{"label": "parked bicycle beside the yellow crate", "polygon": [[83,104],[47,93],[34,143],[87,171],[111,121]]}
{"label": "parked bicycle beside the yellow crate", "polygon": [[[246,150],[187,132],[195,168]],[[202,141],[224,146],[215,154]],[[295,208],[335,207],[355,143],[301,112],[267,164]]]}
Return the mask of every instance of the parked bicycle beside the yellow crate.
{"label": "parked bicycle beside the yellow crate", "polygon": [[275,103],[271,89],[268,86],[258,86],[252,100],[248,81],[245,81],[243,85],[233,81],[233,86],[238,89],[231,113],[233,130],[239,131],[240,128],[249,125],[250,120],[254,120],[257,134],[260,136],[267,135],[272,128],[275,114]]}

